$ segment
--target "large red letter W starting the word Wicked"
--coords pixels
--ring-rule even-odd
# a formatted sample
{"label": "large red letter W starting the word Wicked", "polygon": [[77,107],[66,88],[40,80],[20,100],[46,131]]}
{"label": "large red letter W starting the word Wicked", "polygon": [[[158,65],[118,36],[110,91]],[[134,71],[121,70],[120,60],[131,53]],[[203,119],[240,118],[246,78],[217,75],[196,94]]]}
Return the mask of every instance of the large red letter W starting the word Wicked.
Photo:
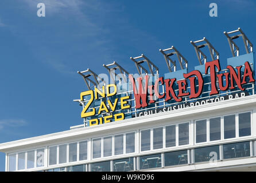
{"label": "large red letter W starting the word Wicked", "polygon": [[[142,77],[137,78],[138,86],[139,86],[139,92],[137,90],[134,78],[131,74],[129,74],[129,79],[130,79],[131,83],[133,83],[133,94],[134,94],[134,98],[135,98],[135,108],[136,109],[141,108],[141,107],[145,108],[146,106],[148,106],[147,93],[148,93],[148,79],[149,79],[149,76],[145,75],[144,89],[143,89],[143,86],[142,86]],[[141,101],[142,101],[142,104],[141,104]]]}

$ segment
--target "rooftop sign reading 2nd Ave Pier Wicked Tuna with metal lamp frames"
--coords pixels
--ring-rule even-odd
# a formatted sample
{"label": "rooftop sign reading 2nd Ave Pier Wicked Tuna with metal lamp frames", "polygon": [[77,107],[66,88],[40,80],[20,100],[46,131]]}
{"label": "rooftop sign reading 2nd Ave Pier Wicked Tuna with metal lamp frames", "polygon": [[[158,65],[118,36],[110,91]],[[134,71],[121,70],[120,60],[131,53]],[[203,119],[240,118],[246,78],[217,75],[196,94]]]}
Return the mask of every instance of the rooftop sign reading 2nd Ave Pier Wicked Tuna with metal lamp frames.
{"label": "rooftop sign reading 2nd Ave Pier Wicked Tuna with metal lamp frames", "polygon": [[[206,42],[203,46],[212,49],[211,58],[216,57],[216,59],[206,61],[205,54],[200,50],[202,45],[196,45],[202,41]],[[75,100],[83,106],[81,117],[84,118],[86,126],[170,110],[182,110],[254,94],[254,55],[251,44],[251,53],[228,58],[228,66],[222,70],[219,53],[207,39],[191,43],[195,47],[200,65],[189,73],[187,73],[187,60],[173,46],[170,49],[160,50],[170,71],[164,74],[164,77],[160,77],[158,67],[143,54],[139,57],[131,57],[138,74],[127,73],[117,62],[103,65],[111,76],[110,84],[106,78],[96,75],[90,69],[79,72],[89,89],[80,93],[79,100]],[[173,52],[166,53],[169,50]],[[173,54],[178,57],[181,67],[179,71],[176,70],[175,61],[170,58]],[[142,60],[138,61],[138,59]],[[142,63],[147,63],[149,71],[142,66]],[[115,67],[110,68],[111,66]],[[119,74],[115,72],[117,69],[120,71]],[[90,76],[95,80],[89,79]],[[90,86],[90,83],[94,85]]]}

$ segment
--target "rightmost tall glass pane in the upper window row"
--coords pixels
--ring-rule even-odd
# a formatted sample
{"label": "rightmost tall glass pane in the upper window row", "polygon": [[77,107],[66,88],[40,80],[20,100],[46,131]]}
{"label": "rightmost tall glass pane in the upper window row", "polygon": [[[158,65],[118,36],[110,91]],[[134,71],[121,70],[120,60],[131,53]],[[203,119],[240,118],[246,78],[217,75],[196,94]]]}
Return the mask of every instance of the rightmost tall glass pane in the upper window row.
{"label": "rightmost tall glass pane in the upper window row", "polygon": [[238,114],[239,118],[239,137],[251,135],[251,113]]}

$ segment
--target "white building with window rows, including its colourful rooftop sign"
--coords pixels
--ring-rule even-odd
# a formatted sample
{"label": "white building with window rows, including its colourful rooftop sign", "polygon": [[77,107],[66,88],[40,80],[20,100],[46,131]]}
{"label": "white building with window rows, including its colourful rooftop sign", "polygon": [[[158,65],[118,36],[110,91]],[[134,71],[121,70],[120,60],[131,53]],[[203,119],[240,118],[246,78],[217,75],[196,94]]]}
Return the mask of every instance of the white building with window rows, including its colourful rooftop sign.
{"label": "white building with window rows, including its colourful rooftop sign", "polygon": [[255,171],[255,60],[247,45],[248,53],[227,59],[227,69],[217,52],[190,73],[185,62],[164,77],[139,73],[102,90],[89,86],[75,100],[83,125],[0,144],[6,171]]}

